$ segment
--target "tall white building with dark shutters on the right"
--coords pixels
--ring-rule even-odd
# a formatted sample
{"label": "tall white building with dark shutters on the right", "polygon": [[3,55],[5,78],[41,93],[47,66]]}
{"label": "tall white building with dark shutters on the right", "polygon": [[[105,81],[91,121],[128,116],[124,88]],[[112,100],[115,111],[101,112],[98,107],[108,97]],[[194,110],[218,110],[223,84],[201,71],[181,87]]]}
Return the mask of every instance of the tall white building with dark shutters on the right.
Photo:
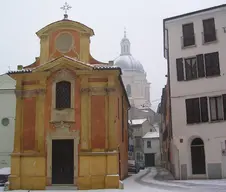
{"label": "tall white building with dark shutters on the right", "polygon": [[177,179],[226,177],[226,5],[164,19]]}

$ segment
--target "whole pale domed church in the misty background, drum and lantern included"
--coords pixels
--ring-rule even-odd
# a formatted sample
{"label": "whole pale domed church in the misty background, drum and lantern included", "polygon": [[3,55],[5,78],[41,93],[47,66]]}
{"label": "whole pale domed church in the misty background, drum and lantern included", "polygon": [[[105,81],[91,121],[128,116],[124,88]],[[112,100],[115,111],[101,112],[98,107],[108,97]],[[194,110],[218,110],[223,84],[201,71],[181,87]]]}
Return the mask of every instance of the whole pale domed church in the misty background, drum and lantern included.
{"label": "whole pale domed church in the misty background, drum and lantern included", "polygon": [[131,106],[150,107],[150,83],[142,64],[130,52],[130,41],[126,32],[121,40],[121,54],[114,64],[122,69],[122,80]]}

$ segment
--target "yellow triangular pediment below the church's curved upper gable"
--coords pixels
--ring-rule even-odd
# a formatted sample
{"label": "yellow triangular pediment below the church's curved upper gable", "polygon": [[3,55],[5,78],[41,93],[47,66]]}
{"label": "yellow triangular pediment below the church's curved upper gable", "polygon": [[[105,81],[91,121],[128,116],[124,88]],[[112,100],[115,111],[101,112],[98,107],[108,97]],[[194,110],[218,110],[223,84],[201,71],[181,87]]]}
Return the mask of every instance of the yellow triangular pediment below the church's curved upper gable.
{"label": "yellow triangular pediment below the church's curved upper gable", "polygon": [[93,66],[88,63],[81,62],[68,56],[62,56],[36,67],[33,69],[33,72],[56,71],[62,68],[71,70],[93,70]]}

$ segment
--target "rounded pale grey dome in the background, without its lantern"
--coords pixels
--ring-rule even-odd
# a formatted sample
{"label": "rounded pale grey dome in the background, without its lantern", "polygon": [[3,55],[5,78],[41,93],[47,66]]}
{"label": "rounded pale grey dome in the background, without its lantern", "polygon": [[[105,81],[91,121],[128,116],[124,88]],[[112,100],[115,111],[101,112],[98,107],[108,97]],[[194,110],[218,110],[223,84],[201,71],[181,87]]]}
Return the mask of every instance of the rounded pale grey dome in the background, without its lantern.
{"label": "rounded pale grey dome in the background, without its lantern", "polygon": [[120,67],[123,71],[136,71],[144,73],[142,64],[132,55],[120,55],[114,61],[115,66]]}

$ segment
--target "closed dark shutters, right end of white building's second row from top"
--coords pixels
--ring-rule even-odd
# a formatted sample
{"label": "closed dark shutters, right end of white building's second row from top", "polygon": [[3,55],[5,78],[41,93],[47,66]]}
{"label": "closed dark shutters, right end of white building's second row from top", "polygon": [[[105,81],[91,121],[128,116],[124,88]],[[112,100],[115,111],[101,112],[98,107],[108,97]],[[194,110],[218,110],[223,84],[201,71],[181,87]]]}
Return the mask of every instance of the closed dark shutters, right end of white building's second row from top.
{"label": "closed dark shutters, right end of white building's second row from top", "polygon": [[219,53],[214,52],[205,54],[205,66],[207,77],[220,75]]}

